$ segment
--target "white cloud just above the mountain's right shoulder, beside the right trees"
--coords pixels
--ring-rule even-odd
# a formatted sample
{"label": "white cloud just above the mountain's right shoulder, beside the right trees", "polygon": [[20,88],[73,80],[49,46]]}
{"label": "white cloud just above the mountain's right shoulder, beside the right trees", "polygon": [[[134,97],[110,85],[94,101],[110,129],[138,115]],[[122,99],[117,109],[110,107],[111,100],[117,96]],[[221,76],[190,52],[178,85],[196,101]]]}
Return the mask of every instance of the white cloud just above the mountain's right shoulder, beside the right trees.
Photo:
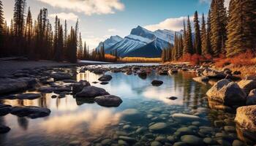
{"label": "white cloud just above the mountain's right shoulder, beside the right trees", "polygon": [[[144,28],[146,28],[150,31],[156,31],[157,29],[181,31],[181,29],[183,29],[184,19],[185,19],[185,22],[187,22],[187,17],[167,18],[160,23],[144,26]],[[190,18],[190,22],[192,23],[192,18]]]}

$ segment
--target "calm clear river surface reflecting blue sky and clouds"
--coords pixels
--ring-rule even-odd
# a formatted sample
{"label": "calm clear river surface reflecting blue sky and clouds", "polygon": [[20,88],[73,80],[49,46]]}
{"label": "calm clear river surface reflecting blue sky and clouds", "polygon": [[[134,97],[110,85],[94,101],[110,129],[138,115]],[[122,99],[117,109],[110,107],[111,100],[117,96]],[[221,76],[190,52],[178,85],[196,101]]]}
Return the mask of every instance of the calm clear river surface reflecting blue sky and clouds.
{"label": "calm clear river surface reflecting blue sky and clouds", "polygon": [[[11,128],[7,134],[0,134],[0,145],[69,145],[70,142],[74,145],[134,145],[136,142],[137,145],[151,145],[156,138],[162,145],[173,145],[181,141],[182,132],[202,139],[220,139],[231,145],[238,139],[236,130],[233,130],[236,127],[233,122],[235,115],[208,108],[205,94],[211,85],[193,81],[194,73],[160,76],[152,72],[146,79],[134,74],[106,74],[113,77],[108,85],[91,85],[121,97],[123,103],[119,107],[101,107],[93,101],[76,100],[71,95],[52,99],[53,93],[34,100],[1,100],[1,103],[12,106],[47,107],[51,113],[37,119],[11,114],[0,117],[0,123]],[[100,76],[86,71],[77,74],[77,80],[94,82]],[[151,85],[152,80],[162,80],[164,84],[155,87]],[[170,96],[178,99],[167,99]],[[172,117],[174,113],[197,115],[200,119],[176,120]],[[214,121],[223,125],[214,124]],[[152,130],[151,126],[156,123],[164,123],[165,128],[160,124]],[[224,129],[224,126],[231,128]]]}

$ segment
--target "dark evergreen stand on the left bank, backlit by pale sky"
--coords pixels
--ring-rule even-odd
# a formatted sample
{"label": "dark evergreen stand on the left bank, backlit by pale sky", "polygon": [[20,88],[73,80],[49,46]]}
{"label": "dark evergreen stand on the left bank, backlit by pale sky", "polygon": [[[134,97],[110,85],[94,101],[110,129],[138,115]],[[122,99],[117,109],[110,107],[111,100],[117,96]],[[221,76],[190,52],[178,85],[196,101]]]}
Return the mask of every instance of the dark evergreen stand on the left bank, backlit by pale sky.
{"label": "dark evergreen stand on the left bank, backlit by pale sky", "polygon": [[[30,8],[26,12],[26,0],[15,0],[14,14],[7,25],[0,0],[0,57],[24,56],[30,60],[77,62],[77,59],[105,60],[104,47],[89,53],[89,47],[78,32],[78,21],[68,32],[58,16],[54,26],[48,19],[48,9],[39,10],[37,20],[32,20]],[[54,28],[53,28],[54,27]]]}

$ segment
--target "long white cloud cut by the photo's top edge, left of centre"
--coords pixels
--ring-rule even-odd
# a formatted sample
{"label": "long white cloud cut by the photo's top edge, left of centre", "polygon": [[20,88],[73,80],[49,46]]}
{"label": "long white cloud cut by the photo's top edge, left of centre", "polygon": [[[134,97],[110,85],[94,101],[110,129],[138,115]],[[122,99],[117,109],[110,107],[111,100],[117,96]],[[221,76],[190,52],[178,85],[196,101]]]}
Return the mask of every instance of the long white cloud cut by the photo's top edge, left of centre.
{"label": "long white cloud cut by the photo's top edge, left of centre", "polygon": [[86,15],[113,14],[115,10],[124,10],[124,4],[119,0],[37,0],[52,7],[83,12]]}

